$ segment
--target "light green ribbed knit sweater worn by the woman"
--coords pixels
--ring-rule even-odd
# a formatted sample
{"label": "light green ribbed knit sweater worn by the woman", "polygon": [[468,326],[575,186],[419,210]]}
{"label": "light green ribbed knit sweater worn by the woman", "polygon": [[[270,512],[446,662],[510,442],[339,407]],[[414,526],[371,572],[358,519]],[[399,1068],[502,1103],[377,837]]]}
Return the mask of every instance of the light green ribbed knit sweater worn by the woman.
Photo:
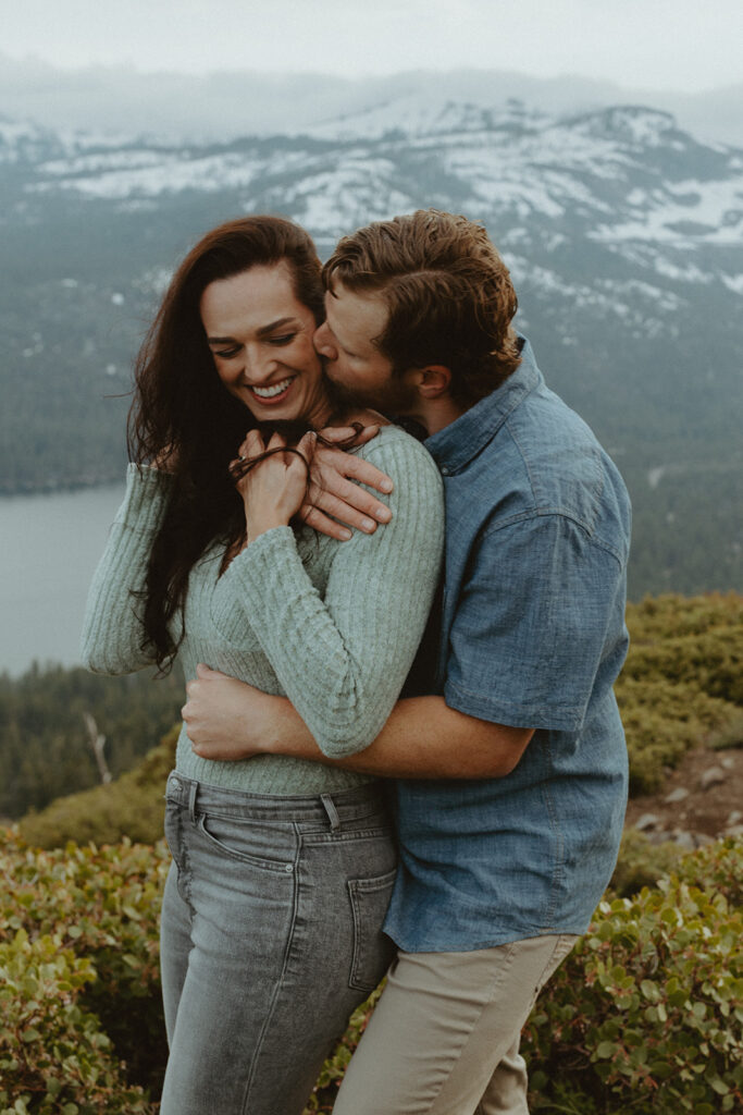
{"label": "light green ribbed knit sweater worn by the woman", "polygon": [[[190,573],[178,651],[186,679],[205,662],[264,692],[284,694],[332,758],[366,747],[390,715],[426,626],[443,545],[441,478],[426,449],[388,426],[358,453],[394,481],[392,522],[340,543],[306,527],[299,534],[275,527],[222,576],[223,547],[212,547]],[[149,665],[131,590],[141,589],[168,484],[164,473],[129,465],[86,608],[82,660],[98,673]],[[189,778],[255,794],[316,794],[366,780],[282,756],[203,759],[185,727],[176,767]]]}

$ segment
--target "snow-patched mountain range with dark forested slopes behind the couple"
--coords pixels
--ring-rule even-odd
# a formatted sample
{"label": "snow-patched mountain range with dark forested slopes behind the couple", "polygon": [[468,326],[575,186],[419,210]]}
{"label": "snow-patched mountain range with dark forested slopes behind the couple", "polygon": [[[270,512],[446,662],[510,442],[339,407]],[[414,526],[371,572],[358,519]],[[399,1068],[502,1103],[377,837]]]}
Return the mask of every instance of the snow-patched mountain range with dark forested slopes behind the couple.
{"label": "snow-patched mountain range with dark forested slopes behind the couple", "polygon": [[[704,144],[642,106],[550,115],[412,89],[302,134],[213,144],[0,120],[0,371],[35,415],[35,381],[47,401],[59,395],[60,415],[66,381],[85,380],[90,395],[102,376],[107,390],[126,390],[156,292],[219,220],[284,213],[321,254],[343,232],[419,206],[482,221],[512,270],[519,321],[548,380],[634,485],[641,536],[657,543],[638,559],[644,586],[677,584],[697,497],[692,549],[702,530],[717,540],[716,586],[741,578],[743,149]],[[69,369],[53,388],[50,345]],[[88,396],[85,406],[92,414]],[[110,446],[121,408],[115,421],[108,409],[96,423]],[[55,435],[57,450],[66,436]],[[100,476],[100,447],[86,452],[77,473],[57,478]],[[48,483],[43,469],[27,479],[13,469],[9,487]],[[698,572],[682,586],[713,584]]]}

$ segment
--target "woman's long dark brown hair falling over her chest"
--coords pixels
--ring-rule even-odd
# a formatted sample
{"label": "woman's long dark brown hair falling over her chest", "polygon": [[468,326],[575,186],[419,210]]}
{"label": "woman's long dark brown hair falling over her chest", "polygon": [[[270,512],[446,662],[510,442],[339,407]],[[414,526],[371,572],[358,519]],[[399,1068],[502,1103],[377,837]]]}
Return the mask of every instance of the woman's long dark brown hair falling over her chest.
{"label": "woman's long dark brown hair falling over her chest", "polygon": [[[141,592],[144,641],[166,670],[184,636],[188,574],[213,542],[229,545],[244,529],[243,504],[228,472],[248,429],[250,410],[223,386],[206,342],[201,299],[209,283],[285,261],[294,294],[323,320],[315,246],[303,229],[276,216],[246,216],[213,229],[177,269],[135,365],[129,457],[173,473]],[[180,610],[180,631],[170,623]]]}

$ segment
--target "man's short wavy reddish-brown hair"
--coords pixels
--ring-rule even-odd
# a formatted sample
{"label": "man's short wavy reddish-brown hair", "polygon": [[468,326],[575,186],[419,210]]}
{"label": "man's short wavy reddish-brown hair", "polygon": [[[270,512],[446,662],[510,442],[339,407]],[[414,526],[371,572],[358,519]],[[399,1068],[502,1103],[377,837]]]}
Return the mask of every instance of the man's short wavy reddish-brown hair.
{"label": "man's short wavy reddish-brown hair", "polygon": [[379,293],[389,310],[374,346],[401,375],[444,365],[453,399],[471,406],[520,362],[511,328],[518,302],[486,230],[467,217],[418,210],[343,236],[323,268],[332,293]]}

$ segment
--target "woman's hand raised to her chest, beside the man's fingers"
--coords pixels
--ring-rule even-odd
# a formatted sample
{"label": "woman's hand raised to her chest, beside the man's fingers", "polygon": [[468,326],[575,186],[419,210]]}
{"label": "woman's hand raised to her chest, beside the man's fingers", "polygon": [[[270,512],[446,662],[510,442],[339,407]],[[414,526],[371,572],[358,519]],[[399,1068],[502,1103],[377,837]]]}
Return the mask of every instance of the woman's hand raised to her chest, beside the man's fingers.
{"label": "woman's hand raised to her chest, beside the man's fingers", "polygon": [[286,442],[274,434],[267,445],[257,430],[251,430],[239,447],[239,457],[258,457],[266,449],[271,456],[260,460],[237,482],[237,491],[245,505],[247,542],[274,526],[289,526],[306,496],[310,465],[316,435],[310,430],[296,448],[286,448]]}

